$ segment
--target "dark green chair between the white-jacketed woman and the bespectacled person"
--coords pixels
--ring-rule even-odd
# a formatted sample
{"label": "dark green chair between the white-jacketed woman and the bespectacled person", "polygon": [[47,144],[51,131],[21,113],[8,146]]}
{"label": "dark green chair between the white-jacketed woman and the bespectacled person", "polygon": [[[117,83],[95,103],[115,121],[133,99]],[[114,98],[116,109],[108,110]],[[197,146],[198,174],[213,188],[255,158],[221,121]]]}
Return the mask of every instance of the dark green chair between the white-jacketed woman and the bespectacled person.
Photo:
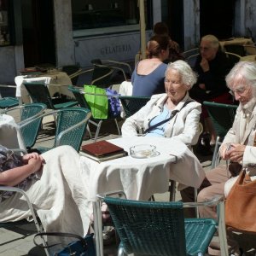
{"label": "dark green chair between the white-jacketed woman and the bespectacled person", "polygon": [[212,155],[212,168],[217,166],[218,162],[218,148],[222,143],[227,132],[233,125],[236,115],[236,105],[223,104],[217,102],[203,102],[207,108],[207,112],[212,120],[212,125],[217,134],[217,139]]}

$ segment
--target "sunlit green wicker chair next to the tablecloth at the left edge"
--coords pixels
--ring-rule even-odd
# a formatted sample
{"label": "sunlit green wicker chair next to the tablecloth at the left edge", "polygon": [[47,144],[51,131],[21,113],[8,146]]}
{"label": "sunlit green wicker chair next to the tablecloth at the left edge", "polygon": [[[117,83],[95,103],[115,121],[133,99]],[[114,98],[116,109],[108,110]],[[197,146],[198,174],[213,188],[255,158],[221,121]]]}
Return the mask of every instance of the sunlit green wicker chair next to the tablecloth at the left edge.
{"label": "sunlit green wicker chair next to the tablecloth at the left edge", "polygon": [[[38,131],[42,125],[42,118],[35,119],[39,115],[44,113],[46,109],[46,105],[44,103],[32,103],[25,104],[15,108],[9,108],[4,110],[2,113],[11,113],[16,109],[20,109],[20,120],[17,121],[17,124],[20,126],[20,131],[26,145],[26,149],[30,149],[36,143],[38,137]],[[22,125],[26,123],[26,120],[35,119],[30,122],[28,125]]]}

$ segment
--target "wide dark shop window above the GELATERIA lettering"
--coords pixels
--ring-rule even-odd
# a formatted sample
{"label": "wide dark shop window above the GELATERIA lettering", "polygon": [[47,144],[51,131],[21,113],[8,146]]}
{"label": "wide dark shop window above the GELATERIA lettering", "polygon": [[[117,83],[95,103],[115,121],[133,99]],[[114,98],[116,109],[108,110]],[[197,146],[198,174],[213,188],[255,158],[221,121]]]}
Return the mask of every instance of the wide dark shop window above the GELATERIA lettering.
{"label": "wide dark shop window above the GELATERIA lettering", "polygon": [[72,0],[73,36],[139,30],[137,0]]}

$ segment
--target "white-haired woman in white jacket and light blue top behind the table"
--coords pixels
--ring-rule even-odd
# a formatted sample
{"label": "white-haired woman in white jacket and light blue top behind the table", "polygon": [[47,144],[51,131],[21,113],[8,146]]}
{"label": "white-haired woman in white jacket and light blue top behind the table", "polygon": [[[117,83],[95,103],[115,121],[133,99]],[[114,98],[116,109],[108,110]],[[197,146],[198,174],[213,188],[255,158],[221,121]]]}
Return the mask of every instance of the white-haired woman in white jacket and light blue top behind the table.
{"label": "white-haired woman in white jacket and light blue top behind the table", "polygon": [[145,136],[176,137],[189,147],[195,145],[200,135],[201,104],[188,93],[195,82],[196,74],[185,61],[169,63],[166,93],[152,96],[143,108],[126,119],[122,136],[137,136],[138,131],[143,131]]}

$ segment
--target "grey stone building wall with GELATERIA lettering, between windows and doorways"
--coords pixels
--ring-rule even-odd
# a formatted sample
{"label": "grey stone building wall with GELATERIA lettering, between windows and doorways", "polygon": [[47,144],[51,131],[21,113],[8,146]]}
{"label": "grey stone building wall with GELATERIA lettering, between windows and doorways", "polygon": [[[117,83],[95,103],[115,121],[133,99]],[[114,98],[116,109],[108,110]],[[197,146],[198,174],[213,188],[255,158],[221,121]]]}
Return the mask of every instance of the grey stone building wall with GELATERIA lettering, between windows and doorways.
{"label": "grey stone building wall with GELATERIA lettering, between windows and doorways", "polygon": [[[131,61],[140,48],[140,33],[126,32],[100,37],[73,38],[71,0],[55,0],[55,44],[57,66],[79,63],[90,66],[90,60],[114,59]],[[154,1],[154,23],[160,21],[161,1]],[[194,48],[200,41],[200,0],[184,0],[184,49]],[[15,17],[18,17],[16,15]],[[256,40],[256,2],[236,0],[234,36],[253,36]],[[19,24],[19,22],[18,22]],[[151,31],[147,32],[147,40]],[[24,67],[22,44],[0,47],[0,84],[14,84]]]}

